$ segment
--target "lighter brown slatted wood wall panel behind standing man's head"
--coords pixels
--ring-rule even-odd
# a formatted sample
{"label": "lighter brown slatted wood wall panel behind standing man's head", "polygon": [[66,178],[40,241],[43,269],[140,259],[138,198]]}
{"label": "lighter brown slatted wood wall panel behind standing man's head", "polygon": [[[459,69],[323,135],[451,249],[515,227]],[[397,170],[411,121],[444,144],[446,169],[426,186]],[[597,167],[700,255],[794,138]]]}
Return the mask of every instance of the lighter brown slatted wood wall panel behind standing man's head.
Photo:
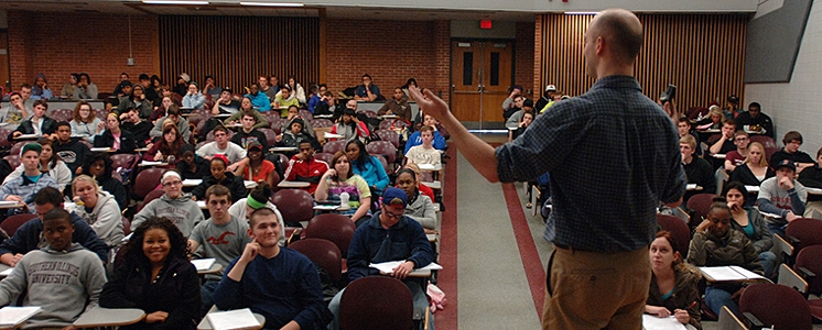
{"label": "lighter brown slatted wood wall panel behind standing man's head", "polygon": [[[585,76],[583,36],[593,15],[547,14],[538,20],[540,89],[552,84],[581,95],[594,84]],[[677,85],[680,110],[724,106],[728,95],[743,98],[746,14],[640,14],[645,43],[635,76],[645,95],[657,99],[668,84]]]}

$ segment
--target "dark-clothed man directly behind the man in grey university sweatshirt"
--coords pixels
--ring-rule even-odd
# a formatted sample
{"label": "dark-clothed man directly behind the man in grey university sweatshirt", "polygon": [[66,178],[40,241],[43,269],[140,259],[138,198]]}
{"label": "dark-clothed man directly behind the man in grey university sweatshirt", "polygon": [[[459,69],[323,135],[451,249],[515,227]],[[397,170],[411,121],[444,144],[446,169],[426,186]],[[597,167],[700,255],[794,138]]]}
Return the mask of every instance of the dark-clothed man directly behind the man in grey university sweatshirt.
{"label": "dark-clothed man directly behind the man in grey university sweatshirt", "polygon": [[[23,257],[23,254],[30,251],[44,248],[43,238],[43,216],[53,210],[63,209],[63,194],[52,187],[45,187],[34,196],[34,210],[40,219],[32,219],[14,232],[14,235],[0,243],[0,262],[9,266],[14,266]],[[72,215],[72,242],[79,243],[84,248],[97,254],[101,263],[108,261],[108,246],[100,241],[97,234],[86,224],[77,215]]]}

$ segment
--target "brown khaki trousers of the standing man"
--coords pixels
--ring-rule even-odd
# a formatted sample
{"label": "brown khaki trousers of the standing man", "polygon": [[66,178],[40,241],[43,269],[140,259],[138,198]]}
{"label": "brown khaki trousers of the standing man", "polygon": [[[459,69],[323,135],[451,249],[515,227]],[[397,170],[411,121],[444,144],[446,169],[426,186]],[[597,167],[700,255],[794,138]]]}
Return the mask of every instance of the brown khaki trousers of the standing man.
{"label": "brown khaki trousers of the standing man", "polygon": [[554,249],[542,329],[642,329],[651,282],[648,248],[595,253]]}

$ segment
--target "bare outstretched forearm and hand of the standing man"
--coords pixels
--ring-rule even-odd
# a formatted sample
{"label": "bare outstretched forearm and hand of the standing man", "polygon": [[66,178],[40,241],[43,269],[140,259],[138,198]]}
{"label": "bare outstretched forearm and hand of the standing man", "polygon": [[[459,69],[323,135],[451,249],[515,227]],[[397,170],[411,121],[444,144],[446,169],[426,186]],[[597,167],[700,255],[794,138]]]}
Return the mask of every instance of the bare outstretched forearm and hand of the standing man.
{"label": "bare outstretched forearm and hand of the standing man", "polygon": [[420,109],[440,120],[440,123],[448,130],[451,140],[456,144],[457,148],[471,151],[463,153],[463,155],[479,174],[491,183],[499,182],[499,176],[497,175],[497,156],[493,146],[468,132],[459,123],[459,120],[451,113],[448,105],[436,97],[431,90],[426,89],[423,96],[420,89],[410,86],[409,92],[417,100]]}

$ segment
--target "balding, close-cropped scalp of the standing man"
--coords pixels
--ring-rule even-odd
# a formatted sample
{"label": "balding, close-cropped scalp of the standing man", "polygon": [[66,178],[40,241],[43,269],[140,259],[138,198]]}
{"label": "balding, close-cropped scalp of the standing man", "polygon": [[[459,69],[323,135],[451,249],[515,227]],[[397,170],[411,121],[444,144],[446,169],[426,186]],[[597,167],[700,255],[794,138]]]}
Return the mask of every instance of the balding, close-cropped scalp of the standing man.
{"label": "balding, close-cropped scalp of the standing man", "polygon": [[587,33],[605,38],[614,59],[624,65],[634,64],[642,47],[642,24],[632,12],[624,9],[599,12],[591,21]]}

